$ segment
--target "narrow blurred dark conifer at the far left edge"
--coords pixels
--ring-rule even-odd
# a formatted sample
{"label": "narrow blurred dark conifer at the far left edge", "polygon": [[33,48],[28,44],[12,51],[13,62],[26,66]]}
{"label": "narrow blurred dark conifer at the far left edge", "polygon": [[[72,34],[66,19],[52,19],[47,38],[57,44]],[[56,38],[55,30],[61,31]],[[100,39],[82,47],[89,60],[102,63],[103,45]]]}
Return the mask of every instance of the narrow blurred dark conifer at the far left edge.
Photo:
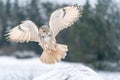
{"label": "narrow blurred dark conifer at the far left edge", "polygon": [[[2,2],[1,2],[1,6],[2,6]],[[1,7],[3,9],[3,15],[2,15],[2,32],[1,32],[1,41],[0,41],[0,46],[5,46],[8,45],[9,42],[5,39],[5,34],[7,31],[7,27],[9,25],[9,20],[10,20],[10,16],[11,16],[11,3],[10,0],[7,0],[7,3],[4,7]]]}

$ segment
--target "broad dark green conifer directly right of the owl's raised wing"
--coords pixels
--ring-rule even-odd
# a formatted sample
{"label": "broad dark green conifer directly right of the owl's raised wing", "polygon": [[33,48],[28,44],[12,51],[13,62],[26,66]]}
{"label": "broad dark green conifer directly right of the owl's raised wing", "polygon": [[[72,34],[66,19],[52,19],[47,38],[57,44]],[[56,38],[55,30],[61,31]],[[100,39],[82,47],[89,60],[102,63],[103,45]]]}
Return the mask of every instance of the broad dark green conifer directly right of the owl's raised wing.
{"label": "broad dark green conifer directly right of the owl's raised wing", "polygon": [[87,61],[88,53],[93,53],[90,47],[90,40],[93,40],[91,32],[92,11],[89,1],[87,0],[83,7],[83,14],[73,27],[70,27],[67,37],[67,44],[70,46],[69,54],[72,61]]}

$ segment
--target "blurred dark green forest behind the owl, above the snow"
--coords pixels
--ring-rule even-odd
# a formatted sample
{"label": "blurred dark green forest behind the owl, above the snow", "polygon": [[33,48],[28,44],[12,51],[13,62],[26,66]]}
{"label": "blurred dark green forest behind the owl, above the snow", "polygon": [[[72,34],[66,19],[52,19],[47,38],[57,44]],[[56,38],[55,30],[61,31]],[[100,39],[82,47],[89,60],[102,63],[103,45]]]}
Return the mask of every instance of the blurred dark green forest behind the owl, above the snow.
{"label": "blurred dark green forest behind the owl, above the snow", "polygon": [[[96,69],[120,71],[120,7],[114,0],[97,1],[93,8],[87,0],[82,17],[72,27],[61,31],[57,41],[69,46],[65,61],[86,63]],[[18,0],[14,3],[0,0],[0,55],[13,56],[16,51],[34,51],[39,56],[42,49],[38,43],[8,42],[4,36],[6,31],[27,19],[42,26],[55,9],[66,5],[31,0],[25,6],[20,6]],[[29,52],[24,57],[14,56],[34,57]]]}

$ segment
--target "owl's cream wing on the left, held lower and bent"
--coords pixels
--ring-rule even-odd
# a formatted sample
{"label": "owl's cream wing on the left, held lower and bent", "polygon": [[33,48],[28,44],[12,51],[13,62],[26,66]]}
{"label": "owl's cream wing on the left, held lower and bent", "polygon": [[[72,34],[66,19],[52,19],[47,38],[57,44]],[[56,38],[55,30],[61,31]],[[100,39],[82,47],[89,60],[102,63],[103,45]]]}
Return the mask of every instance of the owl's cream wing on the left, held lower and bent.
{"label": "owl's cream wing on the left, held lower and bent", "polygon": [[38,42],[38,28],[32,21],[26,20],[11,29],[7,36],[10,41],[14,42]]}

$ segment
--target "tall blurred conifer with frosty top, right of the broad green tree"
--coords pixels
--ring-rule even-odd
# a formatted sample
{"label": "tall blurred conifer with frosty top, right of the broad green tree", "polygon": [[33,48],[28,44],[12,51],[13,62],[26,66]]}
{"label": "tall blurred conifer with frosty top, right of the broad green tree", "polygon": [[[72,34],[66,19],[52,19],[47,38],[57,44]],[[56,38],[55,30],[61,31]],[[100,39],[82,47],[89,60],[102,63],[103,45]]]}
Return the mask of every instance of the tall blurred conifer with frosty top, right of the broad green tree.
{"label": "tall blurred conifer with frosty top, right of the broad green tree", "polygon": [[[115,32],[114,26],[109,21],[108,12],[112,0],[98,0],[98,5],[96,6],[95,19],[97,20],[95,30],[98,31],[97,34],[97,58],[99,60],[109,59],[115,57],[118,51],[115,44]],[[112,12],[111,12],[112,13]],[[98,30],[99,29],[99,30]]]}

